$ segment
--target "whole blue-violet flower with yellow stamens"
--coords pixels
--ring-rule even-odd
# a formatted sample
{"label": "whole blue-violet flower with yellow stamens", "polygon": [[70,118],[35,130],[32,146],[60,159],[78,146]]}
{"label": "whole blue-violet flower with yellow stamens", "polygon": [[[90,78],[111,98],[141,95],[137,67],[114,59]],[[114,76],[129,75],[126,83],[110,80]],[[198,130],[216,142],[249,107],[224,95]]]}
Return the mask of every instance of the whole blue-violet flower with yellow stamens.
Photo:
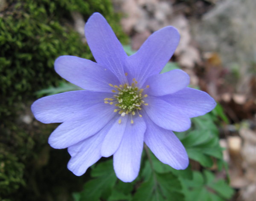
{"label": "whole blue-violet flower with yellow stamens", "polygon": [[101,157],[113,155],[116,176],[133,181],[140,170],[143,143],[164,164],[185,169],[184,146],[172,131],[191,126],[190,118],[211,111],[215,101],[191,89],[189,75],[175,69],[159,74],[180,39],[167,26],[154,32],[128,57],[105,18],[94,13],[85,25],[96,63],[61,56],[55,71],[81,91],[41,98],[32,112],[43,123],[61,123],[49,137],[55,149],[68,148],[68,169],[83,175]]}

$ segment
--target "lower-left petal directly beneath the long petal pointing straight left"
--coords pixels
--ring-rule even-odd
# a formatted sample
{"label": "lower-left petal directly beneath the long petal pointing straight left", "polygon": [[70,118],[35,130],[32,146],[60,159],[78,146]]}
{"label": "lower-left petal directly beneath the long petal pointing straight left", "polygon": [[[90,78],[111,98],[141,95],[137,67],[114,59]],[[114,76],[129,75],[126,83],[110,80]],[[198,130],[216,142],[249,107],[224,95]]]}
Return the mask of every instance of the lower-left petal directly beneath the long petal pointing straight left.
{"label": "lower-left petal directly beneath the long petal pointing straight left", "polygon": [[99,103],[65,121],[49,137],[55,149],[64,149],[96,134],[116,115],[113,106]]}

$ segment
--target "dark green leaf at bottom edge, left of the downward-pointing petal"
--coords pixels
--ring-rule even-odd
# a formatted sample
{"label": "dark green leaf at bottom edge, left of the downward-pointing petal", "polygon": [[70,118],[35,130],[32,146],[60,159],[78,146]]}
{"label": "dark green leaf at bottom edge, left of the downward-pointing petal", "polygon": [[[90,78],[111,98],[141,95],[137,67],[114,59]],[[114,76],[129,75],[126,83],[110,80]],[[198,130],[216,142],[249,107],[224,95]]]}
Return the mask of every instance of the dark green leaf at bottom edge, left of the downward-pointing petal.
{"label": "dark green leaf at bottom edge, left of the downward-pointing petal", "polygon": [[91,175],[96,177],[84,184],[84,190],[80,192],[80,197],[76,195],[78,201],[93,200],[99,201],[100,198],[108,198],[112,193],[116,183],[116,175],[113,171],[113,160],[104,161],[92,170]]}

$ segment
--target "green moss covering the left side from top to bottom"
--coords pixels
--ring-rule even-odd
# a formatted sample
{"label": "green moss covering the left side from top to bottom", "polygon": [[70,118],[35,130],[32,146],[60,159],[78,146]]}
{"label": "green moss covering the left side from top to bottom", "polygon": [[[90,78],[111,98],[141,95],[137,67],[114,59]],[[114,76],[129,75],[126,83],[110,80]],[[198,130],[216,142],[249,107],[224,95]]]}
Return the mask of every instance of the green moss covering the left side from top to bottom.
{"label": "green moss covering the left side from top to bottom", "polygon": [[[98,11],[109,21],[121,42],[127,42],[127,37],[122,33],[120,16],[113,12],[111,0],[6,2],[9,6],[0,13],[0,141],[3,142],[0,144],[0,192],[5,192],[0,194],[0,199],[29,200],[23,192],[33,195],[31,200],[44,199],[34,184],[40,181],[48,189],[49,184],[43,184],[46,181],[38,178],[38,172],[49,173],[51,169],[45,162],[49,151],[44,150],[49,149],[45,147],[49,147],[47,138],[53,127],[40,127],[35,131],[32,126],[17,123],[21,108],[29,107],[27,101],[36,99],[36,91],[58,85],[61,78],[53,69],[58,56],[93,59],[89,47],[81,43],[79,34],[73,30],[72,11],[79,11],[84,20]],[[68,154],[65,157],[68,158]],[[61,162],[67,171],[67,161]],[[36,175],[34,178],[30,177],[31,172]],[[58,179],[53,176],[52,181],[58,182]],[[20,188],[23,190],[19,191]]]}

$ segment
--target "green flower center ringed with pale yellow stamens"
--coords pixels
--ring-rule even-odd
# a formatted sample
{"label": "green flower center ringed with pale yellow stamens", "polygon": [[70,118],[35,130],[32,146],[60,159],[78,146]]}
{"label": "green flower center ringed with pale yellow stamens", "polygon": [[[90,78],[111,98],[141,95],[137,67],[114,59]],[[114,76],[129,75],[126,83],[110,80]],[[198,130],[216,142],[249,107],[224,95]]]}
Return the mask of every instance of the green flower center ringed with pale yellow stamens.
{"label": "green flower center ringed with pale yellow stamens", "polygon": [[[127,74],[125,74],[127,75]],[[122,117],[125,115],[131,115],[131,123],[134,123],[132,120],[132,116],[136,115],[136,112],[140,117],[139,111],[141,110],[141,107],[143,105],[148,105],[148,103],[145,103],[143,100],[144,97],[147,97],[148,95],[144,94],[144,89],[139,89],[137,85],[137,81],[135,78],[133,79],[133,82],[131,85],[128,83],[125,83],[124,85],[113,85],[109,84],[109,86],[113,87],[114,89],[111,90],[111,92],[114,93],[113,97],[111,98],[105,98],[104,103],[113,105],[115,104],[116,109],[114,109],[113,112],[118,112],[121,115],[121,118],[119,119],[118,123],[122,122]],[[146,86],[148,88],[149,85]]]}

